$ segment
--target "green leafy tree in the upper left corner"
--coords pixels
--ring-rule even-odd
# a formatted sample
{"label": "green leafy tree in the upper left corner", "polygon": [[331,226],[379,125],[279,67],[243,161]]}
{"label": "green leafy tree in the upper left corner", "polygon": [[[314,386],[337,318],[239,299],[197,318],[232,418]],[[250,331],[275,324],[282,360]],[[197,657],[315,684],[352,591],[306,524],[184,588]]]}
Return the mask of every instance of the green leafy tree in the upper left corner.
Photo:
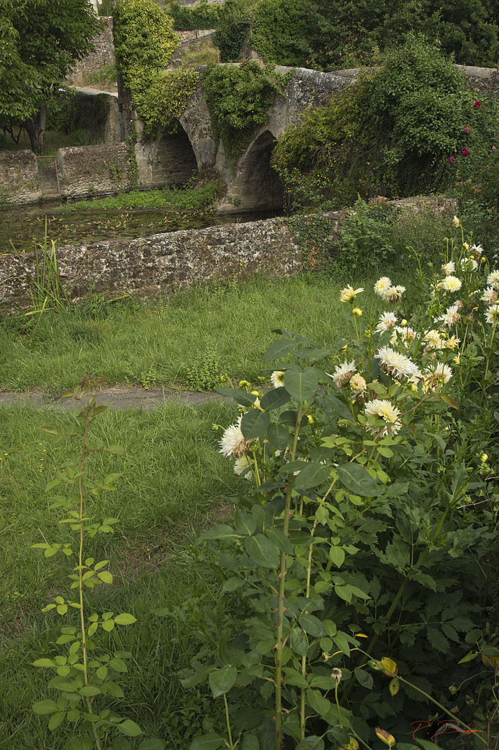
{"label": "green leafy tree in the upper left corner", "polygon": [[2,0],[0,118],[22,124],[40,151],[45,108],[100,30],[89,0]]}

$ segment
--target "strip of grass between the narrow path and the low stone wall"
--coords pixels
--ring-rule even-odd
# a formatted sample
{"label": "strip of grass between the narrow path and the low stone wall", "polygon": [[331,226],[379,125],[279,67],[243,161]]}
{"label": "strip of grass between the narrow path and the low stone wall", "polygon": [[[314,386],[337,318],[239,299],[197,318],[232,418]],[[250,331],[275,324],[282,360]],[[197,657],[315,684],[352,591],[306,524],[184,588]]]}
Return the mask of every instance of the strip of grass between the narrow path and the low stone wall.
{"label": "strip of grass between the narrow path and the low stone wall", "polygon": [[[374,278],[362,306],[378,314]],[[403,278],[393,278],[402,283]],[[342,337],[341,284],[305,276],[244,284],[212,284],[172,293],[148,305],[113,308],[98,302],[64,314],[43,314],[27,334],[0,325],[0,390],[41,389],[61,395],[85,372],[109,385],[213,388],[220,375],[256,382],[272,329],[300,332],[319,346]]]}

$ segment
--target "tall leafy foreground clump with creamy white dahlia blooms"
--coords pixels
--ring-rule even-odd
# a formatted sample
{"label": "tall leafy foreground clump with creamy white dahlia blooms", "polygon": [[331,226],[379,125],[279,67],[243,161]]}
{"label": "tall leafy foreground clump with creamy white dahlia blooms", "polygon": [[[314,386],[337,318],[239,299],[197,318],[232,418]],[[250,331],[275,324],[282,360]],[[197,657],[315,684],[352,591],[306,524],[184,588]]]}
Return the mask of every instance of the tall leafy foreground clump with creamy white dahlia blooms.
{"label": "tall leafy foreground clump with creamy white dahlia blooms", "polygon": [[220,452],[249,484],[166,613],[199,643],[184,688],[220,706],[191,750],[408,750],[455,706],[456,731],[497,746],[499,271],[464,234],[441,260],[419,302],[380,278],[366,325],[363,289],[342,290],[354,333],[334,347],[277,330],[273,389],[217,389],[241,412]]}

